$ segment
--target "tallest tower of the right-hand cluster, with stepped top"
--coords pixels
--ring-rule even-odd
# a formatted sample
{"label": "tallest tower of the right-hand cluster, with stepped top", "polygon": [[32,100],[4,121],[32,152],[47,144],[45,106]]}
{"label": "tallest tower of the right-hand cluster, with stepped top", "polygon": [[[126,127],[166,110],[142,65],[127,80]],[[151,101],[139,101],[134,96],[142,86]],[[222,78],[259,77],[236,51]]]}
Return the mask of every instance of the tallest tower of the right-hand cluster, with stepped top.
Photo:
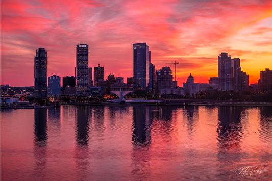
{"label": "tallest tower of the right-hand cluster, with stepped top", "polygon": [[232,60],[228,53],[218,56],[218,89],[230,91],[232,89]]}

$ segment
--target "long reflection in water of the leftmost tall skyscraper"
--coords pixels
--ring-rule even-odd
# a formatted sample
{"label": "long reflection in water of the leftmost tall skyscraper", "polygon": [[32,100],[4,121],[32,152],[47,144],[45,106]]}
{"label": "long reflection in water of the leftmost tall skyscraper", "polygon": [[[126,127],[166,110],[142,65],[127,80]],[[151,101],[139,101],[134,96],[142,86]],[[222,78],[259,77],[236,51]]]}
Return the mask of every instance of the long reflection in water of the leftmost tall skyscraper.
{"label": "long reflection in water of the leftmost tall skyscraper", "polygon": [[34,109],[34,179],[47,175],[47,109]]}

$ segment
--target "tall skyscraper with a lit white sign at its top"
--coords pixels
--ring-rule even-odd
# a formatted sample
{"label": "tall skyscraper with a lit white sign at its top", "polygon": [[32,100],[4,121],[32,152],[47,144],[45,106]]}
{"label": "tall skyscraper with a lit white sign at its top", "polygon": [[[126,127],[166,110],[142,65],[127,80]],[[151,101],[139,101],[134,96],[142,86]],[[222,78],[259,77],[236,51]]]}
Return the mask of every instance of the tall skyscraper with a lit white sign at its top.
{"label": "tall skyscraper with a lit white sign at its top", "polygon": [[88,76],[89,76],[89,45],[79,44],[76,46],[77,49],[77,68],[76,68],[76,82],[77,82],[77,93],[88,93]]}

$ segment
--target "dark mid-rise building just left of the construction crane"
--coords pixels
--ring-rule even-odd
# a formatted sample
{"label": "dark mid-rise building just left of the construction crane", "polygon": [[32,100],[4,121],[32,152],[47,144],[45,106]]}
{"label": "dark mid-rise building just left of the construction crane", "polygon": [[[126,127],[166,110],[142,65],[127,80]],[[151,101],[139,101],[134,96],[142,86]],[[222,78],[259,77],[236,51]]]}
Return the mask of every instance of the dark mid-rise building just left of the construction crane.
{"label": "dark mid-rise building just left of the construction crane", "polygon": [[160,94],[161,89],[173,88],[173,75],[170,67],[162,67],[156,70],[156,93]]}

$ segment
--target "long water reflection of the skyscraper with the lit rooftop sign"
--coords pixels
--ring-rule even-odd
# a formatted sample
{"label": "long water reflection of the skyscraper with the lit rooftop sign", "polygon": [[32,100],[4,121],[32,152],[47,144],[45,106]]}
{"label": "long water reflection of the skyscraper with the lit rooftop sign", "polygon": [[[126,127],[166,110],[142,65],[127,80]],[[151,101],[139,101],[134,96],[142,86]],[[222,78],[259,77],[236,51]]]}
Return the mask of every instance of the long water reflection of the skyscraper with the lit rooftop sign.
{"label": "long water reflection of the skyscraper with the lit rooftop sign", "polygon": [[[89,106],[76,107],[76,173],[79,180],[86,179],[89,173],[89,123],[92,118]],[[90,119],[90,120],[89,120]]]}

